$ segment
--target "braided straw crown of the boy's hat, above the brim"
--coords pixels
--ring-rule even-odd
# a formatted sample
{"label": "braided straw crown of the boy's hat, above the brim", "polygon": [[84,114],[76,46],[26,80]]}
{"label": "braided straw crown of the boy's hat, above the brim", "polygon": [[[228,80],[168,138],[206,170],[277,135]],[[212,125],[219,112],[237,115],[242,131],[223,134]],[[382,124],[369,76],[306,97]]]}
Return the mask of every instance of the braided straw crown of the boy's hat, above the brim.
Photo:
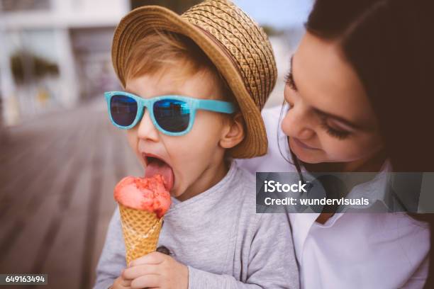
{"label": "braided straw crown of the boy's hat, above the brim", "polygon": [[272,47],[265,32],[229,1],[204,1],[181,17],[206,30],[223,45],[247,91],[262,110],[277,78]]}

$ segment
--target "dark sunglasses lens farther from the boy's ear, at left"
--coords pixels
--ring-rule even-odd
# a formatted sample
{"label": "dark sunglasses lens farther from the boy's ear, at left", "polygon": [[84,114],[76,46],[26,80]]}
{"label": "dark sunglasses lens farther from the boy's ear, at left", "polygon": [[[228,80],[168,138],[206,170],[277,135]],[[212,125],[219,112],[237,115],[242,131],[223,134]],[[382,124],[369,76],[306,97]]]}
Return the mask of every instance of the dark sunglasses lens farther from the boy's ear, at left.
{"label": "dark sunglasses lens farther from the boy's ear, at left", "polygon": [[112,96],[110,101],[111,118],[117,125],[131,125],[137,115],[137,102],[129,96]]}

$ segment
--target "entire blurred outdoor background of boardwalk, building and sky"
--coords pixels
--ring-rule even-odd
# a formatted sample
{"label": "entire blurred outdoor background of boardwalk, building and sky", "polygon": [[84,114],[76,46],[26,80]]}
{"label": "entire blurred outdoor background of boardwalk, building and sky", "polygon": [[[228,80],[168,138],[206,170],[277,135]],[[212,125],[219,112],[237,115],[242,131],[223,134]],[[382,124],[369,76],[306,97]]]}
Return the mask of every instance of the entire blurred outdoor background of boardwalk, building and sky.
{"label": "entire blurred outdoor background of boardwalk, building and sky", "polygon": [[[121,89],[113,31],[138,6],[182,13],[199,2],[0,0],[0,273],[48,273],[41,288],[91,288],[113,187],[143,174],[106,115],[102,93]],[[235,0],[273,45],[279,78],[266,107],[282,103],[312,3]]]}

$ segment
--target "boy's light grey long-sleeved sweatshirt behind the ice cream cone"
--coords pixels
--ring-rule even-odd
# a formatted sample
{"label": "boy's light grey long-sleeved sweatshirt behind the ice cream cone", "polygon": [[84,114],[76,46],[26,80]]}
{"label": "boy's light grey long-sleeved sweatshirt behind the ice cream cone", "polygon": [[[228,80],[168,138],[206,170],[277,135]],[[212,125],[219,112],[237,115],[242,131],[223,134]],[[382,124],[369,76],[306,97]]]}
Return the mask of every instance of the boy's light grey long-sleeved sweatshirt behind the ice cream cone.
{"label": "boy's light grey long-sleeved sweatshirt behind the ice cream cone", "polygon": [[[215,186],[172,205],[158,246],[189,268],[189,289],[299,288],[289,219],[255,212],[255,178],[233,162]],[[94,288],[126,268],[118,208],[111,218]]]}

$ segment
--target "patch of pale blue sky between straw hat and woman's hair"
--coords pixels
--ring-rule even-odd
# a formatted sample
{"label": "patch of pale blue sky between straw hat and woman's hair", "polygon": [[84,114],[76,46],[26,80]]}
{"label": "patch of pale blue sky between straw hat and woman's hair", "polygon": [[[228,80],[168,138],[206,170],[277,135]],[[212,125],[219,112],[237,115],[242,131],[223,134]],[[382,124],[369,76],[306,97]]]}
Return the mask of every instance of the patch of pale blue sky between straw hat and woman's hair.
{"label": "patch of pale blue sky between straw hat and woman's hair", "polygon": [[233,0],[261,25],[303,26],[313,0]]}

